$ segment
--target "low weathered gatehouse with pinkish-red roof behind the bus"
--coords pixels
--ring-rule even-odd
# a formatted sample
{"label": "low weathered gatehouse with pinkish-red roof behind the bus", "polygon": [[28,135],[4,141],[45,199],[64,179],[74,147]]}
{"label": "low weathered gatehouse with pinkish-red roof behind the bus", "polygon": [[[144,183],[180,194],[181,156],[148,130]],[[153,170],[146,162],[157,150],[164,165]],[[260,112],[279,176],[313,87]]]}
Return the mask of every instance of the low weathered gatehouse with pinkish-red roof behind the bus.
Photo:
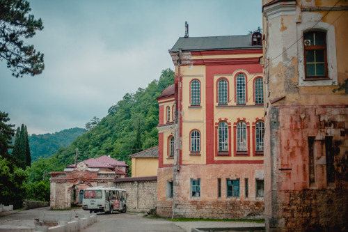
{"label": "low weathered gatehouse with pinkish-red roof behind the bus", "polygon": [[70,208],[82,202],[83,192],[88,187],[113,186],[115,178],[127,176],[128,165],[103,155],[71,164],[64,171],[50,172],[51,208]]}

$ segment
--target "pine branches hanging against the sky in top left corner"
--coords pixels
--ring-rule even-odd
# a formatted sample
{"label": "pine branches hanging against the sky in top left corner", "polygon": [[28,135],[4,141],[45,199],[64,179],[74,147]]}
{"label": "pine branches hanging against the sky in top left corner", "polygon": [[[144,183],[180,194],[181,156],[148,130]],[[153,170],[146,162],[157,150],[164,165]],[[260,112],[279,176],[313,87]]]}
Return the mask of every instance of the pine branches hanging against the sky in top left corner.
{"label": "pine branches hanging against the sky in top left corner", "polygon": [[44,55],[22,40],[43,29],[41,19],[35,20],[30,11],[26,0],[0,0],[0,59],[7,61],[14,77],[38,75],[45,68]]}

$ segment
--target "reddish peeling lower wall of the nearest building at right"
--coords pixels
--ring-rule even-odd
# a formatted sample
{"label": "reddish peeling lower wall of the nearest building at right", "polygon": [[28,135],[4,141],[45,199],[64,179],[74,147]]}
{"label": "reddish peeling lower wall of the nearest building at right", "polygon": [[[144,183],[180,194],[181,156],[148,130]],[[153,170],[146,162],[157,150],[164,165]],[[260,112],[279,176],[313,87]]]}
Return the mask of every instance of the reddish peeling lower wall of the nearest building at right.
{"label": "reddish peeling lower wall of the nearest building at right", "polygon": [[[348,224],[348,107],[271,107],[269,116],[270,133],[264,137],[269,144],[264,169],[271,170],[265,178],[269,231],[344,229]],[[328,137],[332,182],[326,173],[326,156],[331,153]]]}

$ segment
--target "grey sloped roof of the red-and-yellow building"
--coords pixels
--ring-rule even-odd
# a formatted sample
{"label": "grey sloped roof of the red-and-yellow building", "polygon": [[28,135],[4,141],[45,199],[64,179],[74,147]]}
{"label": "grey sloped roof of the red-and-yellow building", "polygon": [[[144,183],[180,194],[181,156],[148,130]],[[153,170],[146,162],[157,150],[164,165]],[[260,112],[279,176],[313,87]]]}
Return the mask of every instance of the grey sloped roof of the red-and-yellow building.
{"label": "grey sloped roof of the red-and-yellow building", "polygon": [[262,46],[251,45],[251,35],[243,36],[211,36],[211,37],[180,37],[170,52],[230,50],[230,49],[262,49]]}

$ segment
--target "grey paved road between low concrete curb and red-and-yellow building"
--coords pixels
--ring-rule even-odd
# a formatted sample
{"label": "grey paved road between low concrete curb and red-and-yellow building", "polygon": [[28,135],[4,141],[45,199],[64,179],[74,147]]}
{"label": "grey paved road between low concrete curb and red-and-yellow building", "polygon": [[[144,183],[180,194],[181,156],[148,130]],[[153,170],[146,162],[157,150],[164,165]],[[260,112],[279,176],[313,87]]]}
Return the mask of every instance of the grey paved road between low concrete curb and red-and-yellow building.
{"label": "grey paved road between low concrete curb and red-and-yellow building", "polygon": [[141,213],[115,212],[112,215],[97,214],[97,222],[81,232],[114,232],[114,231],[171,231],[183,232],[179,226],[165,219],[149,219]]}

